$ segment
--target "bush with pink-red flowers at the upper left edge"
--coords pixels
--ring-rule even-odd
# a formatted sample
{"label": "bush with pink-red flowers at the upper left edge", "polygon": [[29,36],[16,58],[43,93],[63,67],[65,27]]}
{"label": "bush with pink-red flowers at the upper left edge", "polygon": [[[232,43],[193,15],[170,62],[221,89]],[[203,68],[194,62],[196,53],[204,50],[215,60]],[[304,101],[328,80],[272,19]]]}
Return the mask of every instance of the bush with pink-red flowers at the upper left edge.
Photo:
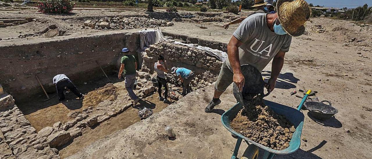
{"label": "bush with pink-red flowers at the upper left edge", "polygon": [[40,0],[39,12],[42,13],[71,13],[75,3],[71,0]]}

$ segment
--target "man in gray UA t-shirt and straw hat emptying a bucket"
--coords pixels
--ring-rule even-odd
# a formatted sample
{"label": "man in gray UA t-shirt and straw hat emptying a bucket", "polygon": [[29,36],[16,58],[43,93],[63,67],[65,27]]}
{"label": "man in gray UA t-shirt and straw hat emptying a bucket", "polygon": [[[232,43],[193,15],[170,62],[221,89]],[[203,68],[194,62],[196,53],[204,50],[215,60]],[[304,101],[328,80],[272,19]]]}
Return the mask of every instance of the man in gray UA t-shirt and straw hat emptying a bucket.
{"label": "man in gray UA t-shirt and straw hat emptying a bucket", "polygon": [[242,91],[244,76],[241,65],[250,64],[260,72],[273,59],[271,77],[266,88],[272,91],[289,51],[292,36],[304,33],[311,8],[305,0],[278,0],[278,13],[257,13],[244,19],[227,45],[228,58],[221,66],[212,101],[206,113],[221,103],[219,97],[232,83]]}

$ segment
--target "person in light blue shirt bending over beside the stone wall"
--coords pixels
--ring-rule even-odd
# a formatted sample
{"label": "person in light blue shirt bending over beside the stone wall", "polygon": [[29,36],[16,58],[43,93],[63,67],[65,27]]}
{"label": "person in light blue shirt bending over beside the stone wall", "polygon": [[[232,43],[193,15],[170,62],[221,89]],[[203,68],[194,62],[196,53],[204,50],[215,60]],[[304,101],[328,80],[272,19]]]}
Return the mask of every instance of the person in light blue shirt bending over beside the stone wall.
{"label": "person in light blue shirt bending over beside the stone wall", "polygon": [[190,69],[186,69],[183,67],[173,67],[172,73],[176,73],[178,78],[182,82],[182,95],[185,96],[186,94],[191,92],[191,85],[190,82],[195,78],[194,72],[192,72]]}

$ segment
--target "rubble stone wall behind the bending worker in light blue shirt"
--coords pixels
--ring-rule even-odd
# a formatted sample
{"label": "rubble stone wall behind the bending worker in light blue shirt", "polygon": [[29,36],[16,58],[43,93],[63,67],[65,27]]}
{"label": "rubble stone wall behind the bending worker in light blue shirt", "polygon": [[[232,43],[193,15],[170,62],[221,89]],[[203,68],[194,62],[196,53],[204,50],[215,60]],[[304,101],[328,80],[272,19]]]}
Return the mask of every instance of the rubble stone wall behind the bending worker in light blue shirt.
{"label": "rubble stone wall behind the bending worker in light blue shirt", "polygon": [[[142,70],[153,73],[154,62],[157,61],[158,55],[164,56],[169,69],[176,66],[192,70],[196,74],[196,78],[191,82],[194,88],[202,88],[215,82],[222,65],[221,61],[201,50],[169,42],[159,42],[151,45],[142,53],[144,59]],[[180,86],[177,79],[175,74],[167,74],[167,81],[170,84]]]}

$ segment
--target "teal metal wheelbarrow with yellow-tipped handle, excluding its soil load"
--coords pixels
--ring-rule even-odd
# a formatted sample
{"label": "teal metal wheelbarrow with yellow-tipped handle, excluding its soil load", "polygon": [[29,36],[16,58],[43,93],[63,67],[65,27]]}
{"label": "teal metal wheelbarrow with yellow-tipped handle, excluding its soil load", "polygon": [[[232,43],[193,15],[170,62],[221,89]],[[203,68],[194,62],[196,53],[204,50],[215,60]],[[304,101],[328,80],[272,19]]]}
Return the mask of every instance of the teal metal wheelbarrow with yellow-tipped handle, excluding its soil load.
{"label": "teal metal wheelbarrow with yellow-tipped handle, excluding its soil load", "polygon": [[301,107],[304,105],[306,98],[309,96],[311,90],[305,94],[304,98],[302,98],[301,103],[299,104],[297,110],[292,107],[284,106],[282,104],[274,103],[272,101],[263,100],[264,103],[269,106],[275,113],[283,115],[288,119],[296,128],[296,131],[293,133],[292,139],[289,142],[289,147],[283,150],[274,150],[270,147],[263,146],[257,142],[250,140],[249,138],[243,136],[242,134],[235,132],[230,126],[230,121],[235,118],[238,112],[243,108],[241,103],[235,104],[230,110],[226,111],[222,114],[221,121],[224,127],[230,131],[232,134],[235,134],[238,137],[237,143],[235,145],[234,153],[232,154],[231,159],[236,159],[238,155],[238,150],[241,144],[241,141],[244,139],[248,145],[247,149],[243,153],[243,157],[241,159],[257,159],[259,149],[261,148],[264,150],[263,158],[262,159],[272,159],[275,154],[285,155],[289,153],[293,153],[300,147],[301,144],[301,133],[302,133],[302,126],[304,125],[304,114],[301,113]]}

